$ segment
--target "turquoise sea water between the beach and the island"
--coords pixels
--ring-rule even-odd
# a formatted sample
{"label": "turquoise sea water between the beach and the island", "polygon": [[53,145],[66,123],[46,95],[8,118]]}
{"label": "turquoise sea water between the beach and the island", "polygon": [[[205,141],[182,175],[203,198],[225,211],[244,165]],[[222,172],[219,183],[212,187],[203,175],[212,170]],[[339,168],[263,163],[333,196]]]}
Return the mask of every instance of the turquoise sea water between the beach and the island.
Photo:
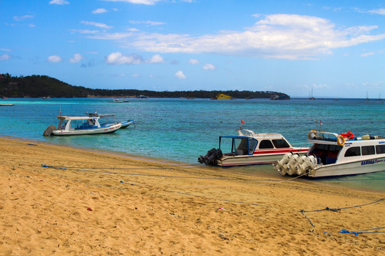
{"label": "turquoise sea water between the beach and the island", "polygon": [[[235,135],[243,120],[245,129],[279,132],[296,146],[307,144],[311,129],[385,135],[385,100],[206,100],[206,99],[130,99],[127,103],[108,103],[106,98],[6,99],[13,107],[0,107],[0,136],[34,139],[91,149],[180,161],[198,165],[197,158],[218,146],[220,135]],[[74,137],[43,137],[56,116],[116,114],[118,120],[133,119],[134,126],[114,134]],[[316,120],[318,121],[316,124]],[[44,163],[42,163],[44,164]],[[218,167],[218,171],[222,171]],[[231,167],[224,171],[263,174],[278,178],[270,165]],[[375,174],[323,178],[312,182],[385,191],[385,171]]]}

